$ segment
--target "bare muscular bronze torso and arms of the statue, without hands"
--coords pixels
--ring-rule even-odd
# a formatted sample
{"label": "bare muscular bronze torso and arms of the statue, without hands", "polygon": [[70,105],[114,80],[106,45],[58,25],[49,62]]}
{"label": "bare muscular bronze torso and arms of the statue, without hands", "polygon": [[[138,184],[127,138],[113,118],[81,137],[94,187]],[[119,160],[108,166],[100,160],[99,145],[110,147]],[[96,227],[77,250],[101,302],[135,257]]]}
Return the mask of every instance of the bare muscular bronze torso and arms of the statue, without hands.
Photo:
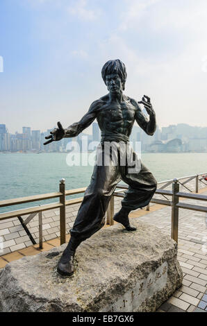
{"label": "bare muscular bronze torso and arms of the statue, without hands", "polygon": [[133,98],[124,95],[121,102],[111,101],[108,94],[94,101],[79,122],[65,129],[64,137],[76,137],[88,128],[94,119],[97,119],[99,123],[102,136],[109,135],[111,140],[113,140],[113,135],[117,134],[123,135],[123,140],[129,139],[134,121],[137,121],[147,135],[153,135],[156,130],[154,113],[151,114],[150,119],[147,119],[140,105]]}

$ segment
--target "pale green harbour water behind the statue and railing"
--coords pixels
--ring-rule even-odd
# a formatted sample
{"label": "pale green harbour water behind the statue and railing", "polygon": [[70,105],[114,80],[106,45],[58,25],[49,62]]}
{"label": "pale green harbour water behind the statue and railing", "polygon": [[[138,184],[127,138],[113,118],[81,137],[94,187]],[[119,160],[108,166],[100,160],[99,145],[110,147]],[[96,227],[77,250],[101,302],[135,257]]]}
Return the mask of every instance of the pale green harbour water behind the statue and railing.
{"label": "pale green harbour water behind the statue and railing", "polygon": [[[93,166],[68,166],[67,155],[67,153],[0,153],[0,200],[58,191],[60,178],[65,178],[66,189],[86,187],[90,182]],[[83,155],[87,154],[81,154],[81,157]],[[93,154],[90,155],[92,160]],[[163,181],[206,172],[207,153],[145,153],[142,154],[142,162],[154,174],[156,180]],[[80,196],[82,194],[74,197]],[[47,200],[47,203],[54,201],[57,199]],[[29,205],[44,203],[46,202]],[[21,207],[28,207],[28,204]],[[19,208],[5,207],[0,209],[0,212]]]}

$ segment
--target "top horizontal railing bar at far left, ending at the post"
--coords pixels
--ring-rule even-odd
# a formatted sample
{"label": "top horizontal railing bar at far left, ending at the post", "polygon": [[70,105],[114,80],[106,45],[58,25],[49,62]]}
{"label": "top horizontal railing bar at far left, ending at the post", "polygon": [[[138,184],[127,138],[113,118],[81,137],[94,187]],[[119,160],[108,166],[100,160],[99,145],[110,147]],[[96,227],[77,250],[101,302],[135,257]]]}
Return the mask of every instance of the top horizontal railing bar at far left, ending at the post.
{"label": "top horizontal railing bar at far left, ending at the post", "polygon": [[0,201],[0,207],[30,203],[33,201],[57,198],[60,196],[63,196],[61,192],[53,192],[51,194],[42,194],[42,195],[28,196],[28,197],[15,198],[15,199],[6,199]]}

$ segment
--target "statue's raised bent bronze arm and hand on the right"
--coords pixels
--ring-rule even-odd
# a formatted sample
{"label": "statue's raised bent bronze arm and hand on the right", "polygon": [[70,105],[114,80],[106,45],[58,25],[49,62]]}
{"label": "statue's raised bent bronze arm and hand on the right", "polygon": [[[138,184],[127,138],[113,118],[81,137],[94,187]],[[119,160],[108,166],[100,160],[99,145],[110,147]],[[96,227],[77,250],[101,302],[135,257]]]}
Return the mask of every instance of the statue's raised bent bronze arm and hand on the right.
{"label": "statue's raised bent bronze arm and hand on the right", "polygon": [[[147,101],[145,101],[145,98],[147,98]],[[156,131],[156,114],[154,112],[154,108],[151,105],[150,98],[146,95],[142,97],[142,101],[137,102],[133,99],[131,99],[131,103],[135,106],[135,121],[137,121],[140,128],[144,130],[144,132],[147,133],[147,135],[153,136],[154,132]],[[146,109],[147,113],[149,114],[149,119],[145,116],[145,114],[142,112],[142,109],[140,107],[140,104],[144,105],[144,108]]]}

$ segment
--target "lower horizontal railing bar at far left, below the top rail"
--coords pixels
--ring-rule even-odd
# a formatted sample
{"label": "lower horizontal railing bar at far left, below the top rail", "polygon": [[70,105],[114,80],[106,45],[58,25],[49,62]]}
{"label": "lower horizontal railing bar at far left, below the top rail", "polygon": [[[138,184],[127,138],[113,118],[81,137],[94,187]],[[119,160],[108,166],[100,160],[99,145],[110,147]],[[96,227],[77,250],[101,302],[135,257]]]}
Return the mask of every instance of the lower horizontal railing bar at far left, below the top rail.
{"label": "lower horizontal railing bar at far left, below the top rail", "polygon": [[0,221],[6,220],[7,218],[13,218],[13,217],[22,216],[22,215],[33,214],[36,212],[37,213],[44,212],[49,209],[60,208],[61,206],[63,206],[63,204],[53,203],[53,204],[47,204],[47,205],[42,205],[42,206],[35,206],[35,207],[30,207],[30,208],[25,208],[25,209],[19,209],[17,211],[13,211],[13,212],[1,213]]}

